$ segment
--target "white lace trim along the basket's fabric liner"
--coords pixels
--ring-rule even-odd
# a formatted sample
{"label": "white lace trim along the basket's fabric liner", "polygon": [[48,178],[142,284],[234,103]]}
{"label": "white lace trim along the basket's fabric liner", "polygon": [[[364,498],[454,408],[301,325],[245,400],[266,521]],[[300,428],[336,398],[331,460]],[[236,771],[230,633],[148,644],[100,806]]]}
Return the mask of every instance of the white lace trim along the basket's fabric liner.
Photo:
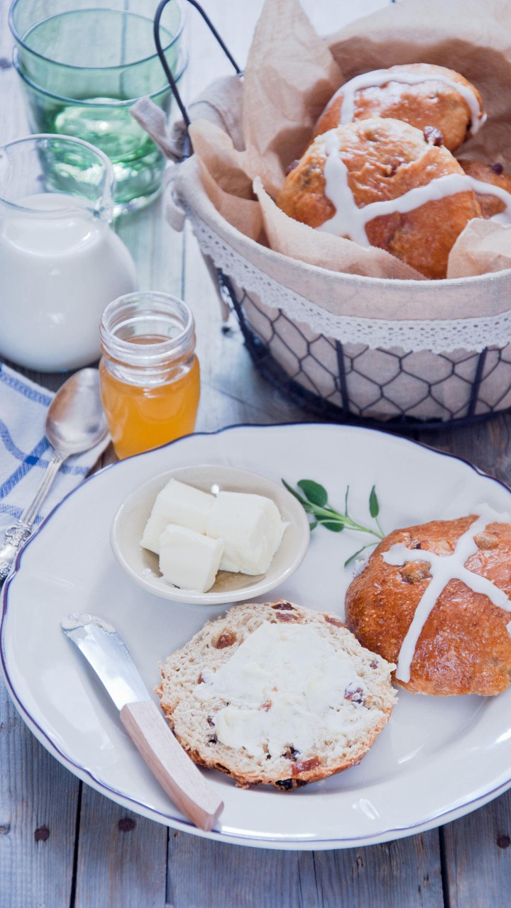
{"label": "white lace trim along the basket's fabric liner", "polygon": [[343,343],[365,344],[372,350],[401,347],[409,352],[433,353],[480,351],[486,347],[504,349],[511,342],[511,311],[483,318],[442,321],[386,321],[335,315],[255,268],[220,239],[183,200],[181,204],[202,252],[211,257],[216,268],[225,271],[244,290],[256,293],[266,306],[281,309],[293,321],[305,322],[316,334]]}

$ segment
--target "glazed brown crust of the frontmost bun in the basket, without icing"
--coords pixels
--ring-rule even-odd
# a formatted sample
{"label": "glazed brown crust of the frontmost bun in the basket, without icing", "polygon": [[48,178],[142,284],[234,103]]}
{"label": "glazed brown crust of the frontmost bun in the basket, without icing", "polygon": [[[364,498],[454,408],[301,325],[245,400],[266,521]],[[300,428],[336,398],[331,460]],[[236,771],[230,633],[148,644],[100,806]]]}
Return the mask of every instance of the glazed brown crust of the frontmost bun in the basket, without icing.
{"label": "glazed brown crust of the frontmost bun in the basket, without icing", "polygon": [[[449,173],[463,173],[443,146],[428,143],[414,126],[397,120],[360,120],[338,126],[339,153],[358,208],[397,199],[417,186]],[[276,202],[289,217],[319,227],[336,212],[326,198],[325,138],[318,136],[287,174]],[[374,218],[366,224],[372,246],[386,249],[431,279],[446,277],[447,259],[466,224],[480,217],[472,191],[426,202],[407,213]]]}

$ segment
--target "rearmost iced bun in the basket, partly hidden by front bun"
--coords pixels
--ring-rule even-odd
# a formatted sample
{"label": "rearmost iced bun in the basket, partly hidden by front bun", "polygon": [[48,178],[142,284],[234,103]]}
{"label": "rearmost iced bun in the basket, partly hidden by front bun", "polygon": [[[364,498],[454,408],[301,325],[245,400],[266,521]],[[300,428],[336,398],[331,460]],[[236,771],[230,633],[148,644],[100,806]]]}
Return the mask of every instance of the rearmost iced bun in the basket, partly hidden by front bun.
{"label": "rearmost iced bun in the basket, partly hidden by front bun", "polygon": [[463,75],[444,66],[416,63],[350,79],[327,104],[314,134],[375,116],[403,120],[420,130],[434,128],[438,141],[441,138],[451,152],[486,120],[481,95]]}

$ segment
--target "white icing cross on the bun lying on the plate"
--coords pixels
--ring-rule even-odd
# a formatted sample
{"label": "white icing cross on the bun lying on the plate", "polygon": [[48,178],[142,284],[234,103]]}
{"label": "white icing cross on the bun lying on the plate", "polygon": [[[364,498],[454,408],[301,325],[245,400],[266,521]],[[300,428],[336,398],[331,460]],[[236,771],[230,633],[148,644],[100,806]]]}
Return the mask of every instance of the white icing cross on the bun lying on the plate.
{"label": "white icing cross on the bun lying on the plate", "polygon": [[[508,514],[498,514],[488,505],[476,508],[476,513],[479,514],[479,517],[466,530],[466,533],[457,540],[456,548],[452,555],[436,555],[435,552],[424,551],[422,548],[417,551],[417,549],[406,548],[402,542],[397,542],[382,555],[387,565],[402,566],[408,561],[426,561],[430,566],[431,572],[429,585],[416,607],[416,614],[399,650],[396,677],[400,681],[406,683],[410,680],[410,666],[416,652],[418,638],[422,633],[427,618],[436,605],[437,598],[450,580],[461,580],[466,584],[466,587],[472,589],[475,593],[482,593],[487,596],[494,606],[503,608],[506,612],[511,612],[511,602],[502,589],[496,587],[486,577],[480,577],[465,567],[468,558],[476,554],[477,544],[475,537],[477,534],[482,533],[488,523],[509,523],[511,518]],[[507,625],[507,630],[511,633],[511,622]]]}

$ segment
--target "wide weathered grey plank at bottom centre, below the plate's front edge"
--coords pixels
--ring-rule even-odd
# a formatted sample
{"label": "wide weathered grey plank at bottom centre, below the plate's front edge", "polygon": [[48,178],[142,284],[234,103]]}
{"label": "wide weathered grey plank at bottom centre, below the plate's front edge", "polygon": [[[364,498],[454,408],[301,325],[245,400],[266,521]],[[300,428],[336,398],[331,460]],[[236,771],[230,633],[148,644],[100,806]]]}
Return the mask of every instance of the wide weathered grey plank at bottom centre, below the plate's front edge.
{"label": "wide weathered grey plank at bottom centre, below the plate's front edge", "polygon": [[167,899],[172,908],[442,908],[438,836],[300,853],[171,831]]}

